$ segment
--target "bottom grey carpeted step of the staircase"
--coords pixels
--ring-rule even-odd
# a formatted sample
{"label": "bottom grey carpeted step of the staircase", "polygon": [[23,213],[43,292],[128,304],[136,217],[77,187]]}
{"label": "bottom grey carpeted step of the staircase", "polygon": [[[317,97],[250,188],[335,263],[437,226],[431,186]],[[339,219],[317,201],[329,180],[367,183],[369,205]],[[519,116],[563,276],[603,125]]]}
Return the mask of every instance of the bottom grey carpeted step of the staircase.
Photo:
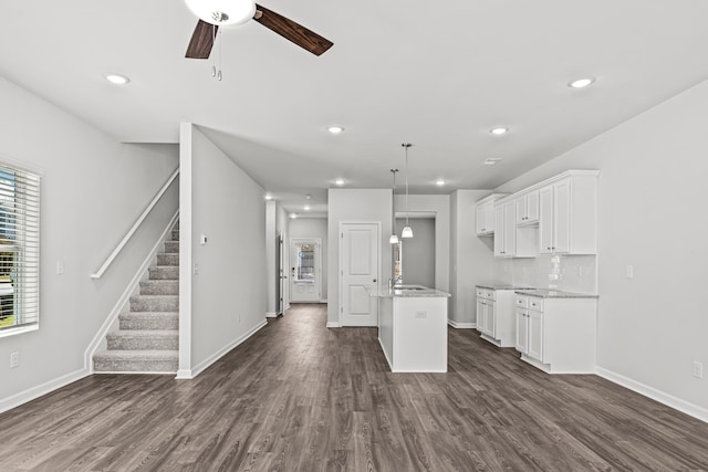
{"label": "bottom grey carpeted step of the staircase", "polygon": [[178,350],[104,350],[93,356],[95,373],[175,374]]}

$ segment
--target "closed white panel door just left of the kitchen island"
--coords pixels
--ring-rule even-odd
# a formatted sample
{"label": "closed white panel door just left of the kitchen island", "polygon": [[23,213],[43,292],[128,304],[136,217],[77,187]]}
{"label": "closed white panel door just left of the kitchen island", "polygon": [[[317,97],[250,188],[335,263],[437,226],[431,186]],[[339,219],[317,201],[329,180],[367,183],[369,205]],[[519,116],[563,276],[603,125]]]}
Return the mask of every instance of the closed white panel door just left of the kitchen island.
{"label": "closed white panel door just left of the kitchen island", "polygon": [[377,326],[378,304],[366,289],[378,285],[378,223],[341,223],[340,315],[342,326]]}

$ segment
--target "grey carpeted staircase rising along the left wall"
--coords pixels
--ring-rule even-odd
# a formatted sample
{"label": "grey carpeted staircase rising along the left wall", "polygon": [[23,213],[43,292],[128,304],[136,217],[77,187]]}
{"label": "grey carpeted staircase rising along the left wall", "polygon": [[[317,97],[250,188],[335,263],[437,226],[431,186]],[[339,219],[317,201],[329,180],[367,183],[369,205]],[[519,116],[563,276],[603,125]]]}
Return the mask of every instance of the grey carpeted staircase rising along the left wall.
{"label": "grey carpeted staircase rising along the left wall", "polygon": [[94,354],[94,373],[175,374],[179,364],[179,223],[148,268],[131,311],[106,335],[108,349]]}

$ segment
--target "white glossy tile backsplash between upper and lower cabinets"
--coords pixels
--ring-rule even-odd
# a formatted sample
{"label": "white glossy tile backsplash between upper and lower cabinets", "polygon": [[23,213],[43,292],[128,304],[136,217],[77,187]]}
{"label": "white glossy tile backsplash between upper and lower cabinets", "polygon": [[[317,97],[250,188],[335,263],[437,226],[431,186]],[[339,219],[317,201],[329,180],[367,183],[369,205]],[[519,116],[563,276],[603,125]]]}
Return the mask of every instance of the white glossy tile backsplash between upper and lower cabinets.
{"label": "white glossy tile backsplash between upper and lower cabinets", "polygon": [[597,293],[596,255],[539,255],[496,259],[494,279],[504,284]]}

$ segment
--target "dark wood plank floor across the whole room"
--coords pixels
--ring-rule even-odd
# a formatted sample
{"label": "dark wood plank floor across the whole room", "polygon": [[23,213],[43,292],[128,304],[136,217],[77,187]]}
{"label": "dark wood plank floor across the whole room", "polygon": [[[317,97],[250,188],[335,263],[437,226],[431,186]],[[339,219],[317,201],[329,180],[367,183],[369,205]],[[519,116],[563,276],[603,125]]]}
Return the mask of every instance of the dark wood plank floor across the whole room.
{"label": "dark wood plank floor across the whole room", "polygon": [[449,331],[448,374],[391,374],[325,305],[197,379],[93,376],[0,415],[1,471],[708,470],[708,424]]}

